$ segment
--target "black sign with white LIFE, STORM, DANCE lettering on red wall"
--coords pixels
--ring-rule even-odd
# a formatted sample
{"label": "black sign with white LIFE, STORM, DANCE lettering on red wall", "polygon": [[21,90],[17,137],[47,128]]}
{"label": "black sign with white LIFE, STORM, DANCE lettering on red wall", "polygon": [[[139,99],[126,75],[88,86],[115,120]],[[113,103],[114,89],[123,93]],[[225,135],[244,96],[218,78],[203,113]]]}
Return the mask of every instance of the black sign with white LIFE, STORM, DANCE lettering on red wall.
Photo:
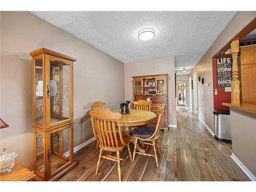
{"label": "black sign with white LIFE, STORM, DANCE lettering on red wall", "polygon": [[231,57],[217,58],[217,86],[231,87]]}

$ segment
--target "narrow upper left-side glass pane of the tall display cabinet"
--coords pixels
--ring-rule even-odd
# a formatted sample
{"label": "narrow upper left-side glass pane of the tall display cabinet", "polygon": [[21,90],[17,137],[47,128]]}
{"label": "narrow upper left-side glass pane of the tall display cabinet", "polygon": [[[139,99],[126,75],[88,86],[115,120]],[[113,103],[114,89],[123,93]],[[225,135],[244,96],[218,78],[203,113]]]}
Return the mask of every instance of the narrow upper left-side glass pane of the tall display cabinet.
{"label": "narrow upper left-side glass pane of the tall display cabinet", "polygon": [[34,60],[34,123],[44,124],[44,68],[42,58]]}

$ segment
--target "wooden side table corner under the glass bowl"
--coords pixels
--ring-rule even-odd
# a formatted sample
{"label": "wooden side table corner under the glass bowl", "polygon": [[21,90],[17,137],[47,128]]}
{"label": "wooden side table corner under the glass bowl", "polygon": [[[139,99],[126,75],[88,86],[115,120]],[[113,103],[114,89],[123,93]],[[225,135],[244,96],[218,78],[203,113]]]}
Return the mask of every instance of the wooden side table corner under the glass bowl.
{"label": "wooden side table corner under the glass bowl", "polygon": [[27,167],[14,160],[11,172],[0,173],[0,181],[29,181],[35,177]]}

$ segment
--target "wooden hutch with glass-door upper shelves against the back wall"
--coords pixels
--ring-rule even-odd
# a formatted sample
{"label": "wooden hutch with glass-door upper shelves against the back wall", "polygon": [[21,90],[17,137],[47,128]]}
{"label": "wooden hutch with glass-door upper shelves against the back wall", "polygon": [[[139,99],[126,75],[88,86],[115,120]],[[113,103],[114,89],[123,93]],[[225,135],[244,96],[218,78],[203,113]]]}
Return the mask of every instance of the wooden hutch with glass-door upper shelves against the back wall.
{"label": "wooden hutch with glass-door upper shelves against the back wall", "polygon": [[133,77],[134,101],[139,99],[152,101],[151,111],[156,113],[157,117],[151,122],[151,126],[157,125],[160,105],[165,103],[164,118],[161,129],[168,131],[168,74],[145,75]]}

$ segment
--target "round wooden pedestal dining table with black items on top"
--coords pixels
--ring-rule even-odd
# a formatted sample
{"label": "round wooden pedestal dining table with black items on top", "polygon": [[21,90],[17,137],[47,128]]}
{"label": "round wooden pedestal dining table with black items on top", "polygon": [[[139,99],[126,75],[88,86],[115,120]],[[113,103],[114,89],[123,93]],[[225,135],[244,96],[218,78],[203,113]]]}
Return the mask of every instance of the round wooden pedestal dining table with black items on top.
{"label": "round wooden pedestal dining table with black items on top", "polygon": [[[112,111],[115,113],[120,112],[120,110]],[[135,143],[135,138],[132,136],[132,127],[146,125],[154,118],[156,118],[156,114],[154,112],[131,109],[130,114],[122,114],[121,116],[120,125],[122,127],[122,134],[130,135],[131,141]],[[141,153],[145,153],[145,150],[141,146],[138,146],[137,150]]]}

